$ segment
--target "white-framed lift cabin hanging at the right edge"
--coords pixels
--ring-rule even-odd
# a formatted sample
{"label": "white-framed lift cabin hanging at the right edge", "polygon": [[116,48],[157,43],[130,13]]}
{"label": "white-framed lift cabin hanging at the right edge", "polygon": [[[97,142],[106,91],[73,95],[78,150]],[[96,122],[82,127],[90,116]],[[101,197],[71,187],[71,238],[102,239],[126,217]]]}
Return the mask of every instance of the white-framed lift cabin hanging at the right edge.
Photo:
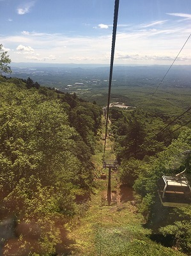
{"label": "white-framed lift cabin hanging at the right edge", "polygon": [[191,204],[191,189],[187,177],[165,176],[158,181],[158,194],[162,205],[187,207]]}

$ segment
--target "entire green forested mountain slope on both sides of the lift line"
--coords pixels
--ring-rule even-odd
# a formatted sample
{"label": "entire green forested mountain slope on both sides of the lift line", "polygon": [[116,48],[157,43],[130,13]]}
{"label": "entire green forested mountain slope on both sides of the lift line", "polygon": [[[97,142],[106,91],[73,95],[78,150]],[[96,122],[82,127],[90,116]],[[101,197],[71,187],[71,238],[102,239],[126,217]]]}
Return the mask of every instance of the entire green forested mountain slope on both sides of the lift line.
{"label": "entire green forested mountain slope on both sides of the lift line", "polygon": [[9,230],[0,255],[190,255],[190,207],[162,207],[157,194],[163,173],[185,167],[189,113],[160,132],[162,112],[111,109],[107,153],[119,162],[121,199],[100,208],[102,109],[30,78],[0,77],[0,104],[0,231]]}

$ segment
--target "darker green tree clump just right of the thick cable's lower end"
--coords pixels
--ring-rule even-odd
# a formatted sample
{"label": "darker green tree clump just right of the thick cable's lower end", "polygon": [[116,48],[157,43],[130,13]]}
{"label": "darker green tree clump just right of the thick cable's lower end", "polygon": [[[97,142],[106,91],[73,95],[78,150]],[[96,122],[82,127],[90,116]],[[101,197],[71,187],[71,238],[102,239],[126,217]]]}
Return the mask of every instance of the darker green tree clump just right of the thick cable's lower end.
{"label": "darker green tree clump just right of the thick cable's lower end", "polygon": [[110,115],[119,162],[131,157],[142,160],[145,156],[153,156],[171,143],[173,138],[169,136],[171,131],[159,137],[155,136],[164,124],[160,117],[155,118],[151,113],[139,109],[134,111],[111,109]]}

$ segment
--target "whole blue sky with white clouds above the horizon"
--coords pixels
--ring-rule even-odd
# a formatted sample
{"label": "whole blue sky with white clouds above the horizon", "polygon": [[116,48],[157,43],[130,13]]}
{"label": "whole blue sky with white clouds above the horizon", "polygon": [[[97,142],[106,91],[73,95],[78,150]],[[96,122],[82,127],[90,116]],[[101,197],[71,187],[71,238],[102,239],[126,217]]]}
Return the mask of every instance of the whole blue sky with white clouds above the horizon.
{"label": "whole blue sky with white clouds above the horizon", "polygon": [[[0,0],[1,51],[12,62],[111,58],[114,0]],[[170,65],[191,33],[190,0],[119,0],[114,64]],[[191,65],[191,36],[176,59]]]}

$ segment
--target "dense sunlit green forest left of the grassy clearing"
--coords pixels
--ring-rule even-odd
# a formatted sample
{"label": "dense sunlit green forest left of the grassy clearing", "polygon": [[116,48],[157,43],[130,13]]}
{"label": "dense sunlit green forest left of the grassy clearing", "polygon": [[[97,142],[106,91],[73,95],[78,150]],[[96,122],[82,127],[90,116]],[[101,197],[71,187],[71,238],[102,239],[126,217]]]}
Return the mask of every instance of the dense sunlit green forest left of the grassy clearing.
{"label": "dense sunlit green forest left of the grassy clearing", "polygon": [[65,243],[63,223],[91,196],[102,111],[30,78],[1,77],[0,86],[1,220],[15,218],[24,229],[18,236],[31,228],[27,236],[40,237],[37,246],[26,240],[23,250],[52,255]]}

